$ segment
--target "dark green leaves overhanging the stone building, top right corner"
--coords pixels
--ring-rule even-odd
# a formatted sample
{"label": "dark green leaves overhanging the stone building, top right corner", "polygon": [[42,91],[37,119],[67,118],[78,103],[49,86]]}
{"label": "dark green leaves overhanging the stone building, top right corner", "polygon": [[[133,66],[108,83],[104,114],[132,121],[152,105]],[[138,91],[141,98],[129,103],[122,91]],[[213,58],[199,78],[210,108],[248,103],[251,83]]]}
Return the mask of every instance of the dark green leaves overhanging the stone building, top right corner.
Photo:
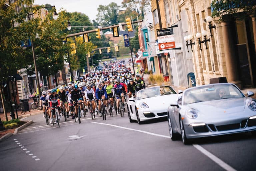
{"label": "dark green leaves overhanging the stone building, top right corner", "polygon": [[213,0],[212,1],[213,17],[231,17],[245,18],[248,15],[256,15],[255,0]]}

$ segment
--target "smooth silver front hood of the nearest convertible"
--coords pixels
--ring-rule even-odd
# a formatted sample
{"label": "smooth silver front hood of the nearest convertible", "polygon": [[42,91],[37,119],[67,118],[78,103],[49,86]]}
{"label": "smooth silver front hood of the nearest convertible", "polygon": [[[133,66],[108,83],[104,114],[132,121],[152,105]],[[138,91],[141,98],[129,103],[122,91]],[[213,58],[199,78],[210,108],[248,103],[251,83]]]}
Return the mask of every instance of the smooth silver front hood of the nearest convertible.
{"label": "smooth silver front hood of the nearest convertible", "polygon": [[190,108],[198,110],[200,113],[236,113],[244,110],[246,98],[220,99],[206,102],[188,104]]}

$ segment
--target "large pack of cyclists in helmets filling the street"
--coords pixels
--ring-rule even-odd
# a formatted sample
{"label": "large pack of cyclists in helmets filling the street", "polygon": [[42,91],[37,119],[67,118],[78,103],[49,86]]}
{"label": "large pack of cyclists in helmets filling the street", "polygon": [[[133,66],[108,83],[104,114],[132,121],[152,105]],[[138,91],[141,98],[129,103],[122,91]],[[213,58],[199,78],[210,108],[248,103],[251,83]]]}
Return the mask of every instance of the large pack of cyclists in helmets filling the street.
{"label": "large pack of cyclists in helmets filling the street", "polygon": [[107,103],[111,103],[111,110],[114,110],[114,98],[116,114],[119,114],[120,100],[126,104],[127,95],[129,98],[133,97],[137,91],[146,88],[141,75],[132,74],[131,69],[125,67],[124,60],[104,62],[103,65],[103,70],[89,72],[76,82],[72,81],[68,85],[62,84],[47,92],[43,91],[39,101],[40,107],[43,108],[43,116],[48,113],[50,123],[53,122],[52,117],[56,123],[55,110],[58,110],[58,119],[66,112],[67,118],[71,116],[78,121],[78,105],[82,114],[88,112],[91,105],[94,117],[98,113],[101,117],[101,107],[108,111]]}

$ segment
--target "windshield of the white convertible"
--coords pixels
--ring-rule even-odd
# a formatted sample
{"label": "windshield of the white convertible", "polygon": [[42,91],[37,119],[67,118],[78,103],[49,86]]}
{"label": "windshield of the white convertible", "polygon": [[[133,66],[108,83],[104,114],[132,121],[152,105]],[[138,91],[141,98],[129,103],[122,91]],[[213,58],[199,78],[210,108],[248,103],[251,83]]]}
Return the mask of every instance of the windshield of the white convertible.
{"label": "windshield of the white convertible", "polygon": [[170,86],[151,87],[151,88],[138,91],[137,99],[140,100],[140,99],[156,97],[156,96],[164,96],[169,94],[176,94],[176,92]]}

